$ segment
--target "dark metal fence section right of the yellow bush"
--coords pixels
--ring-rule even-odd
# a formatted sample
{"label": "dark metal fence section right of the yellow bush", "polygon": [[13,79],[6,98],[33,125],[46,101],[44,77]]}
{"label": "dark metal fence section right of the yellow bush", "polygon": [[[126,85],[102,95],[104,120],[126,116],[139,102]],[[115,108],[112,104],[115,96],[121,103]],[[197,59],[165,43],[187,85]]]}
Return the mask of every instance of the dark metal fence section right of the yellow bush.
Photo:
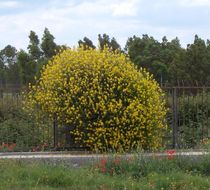
{"label": "dark metal fence section right of the yellow bush", "polygon": [[169,108],[169,145],[195,148],[210,134],[210,87],[163,87]]}

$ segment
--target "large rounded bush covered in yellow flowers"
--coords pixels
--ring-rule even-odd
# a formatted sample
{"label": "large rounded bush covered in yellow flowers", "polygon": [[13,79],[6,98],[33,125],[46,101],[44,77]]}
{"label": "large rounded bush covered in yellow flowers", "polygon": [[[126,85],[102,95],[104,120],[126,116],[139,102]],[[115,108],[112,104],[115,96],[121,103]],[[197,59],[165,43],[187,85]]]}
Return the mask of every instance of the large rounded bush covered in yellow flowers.
{"label": "large rounded bush covered in yellow flowers", "polygon": [[163,94],[152,77],[122,53],[66,49],[43,68],[27,103],[73,127],[74,141],[92,150],[161,146]]}

